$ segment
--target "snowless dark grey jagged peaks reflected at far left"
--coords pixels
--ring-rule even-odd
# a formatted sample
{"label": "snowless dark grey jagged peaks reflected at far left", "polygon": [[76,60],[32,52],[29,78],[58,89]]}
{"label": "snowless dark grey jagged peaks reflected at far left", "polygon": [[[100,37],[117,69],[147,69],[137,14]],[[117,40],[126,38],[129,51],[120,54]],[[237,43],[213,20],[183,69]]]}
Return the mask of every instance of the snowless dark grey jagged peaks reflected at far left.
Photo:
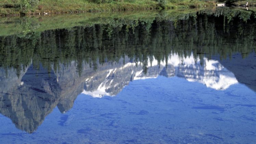
{"label": "snowless dark grey jagged peaks reflected at far left", "polygon": [[7,82],[12,85],[1,87],[0,112],[11,118],[18,129],[29,133],[35,131],[56,106],[62,113],[70,109],[78,94],[63,93],[54,71],[42,66],[35,69],[31,64],[22,78],[10,75],[12,73],[1,83],[1,86]]}

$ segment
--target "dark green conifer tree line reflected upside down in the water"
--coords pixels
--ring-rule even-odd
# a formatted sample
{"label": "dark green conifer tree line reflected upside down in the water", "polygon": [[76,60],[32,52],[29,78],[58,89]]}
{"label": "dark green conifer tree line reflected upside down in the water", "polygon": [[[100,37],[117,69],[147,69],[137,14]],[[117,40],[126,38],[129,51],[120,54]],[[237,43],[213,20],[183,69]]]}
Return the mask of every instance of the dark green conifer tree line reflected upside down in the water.
{"label": "dark green conifer tree line reflected upside down in the water", "polygon": [[256,49],[255,15],[249,12],[249,17],[244,18],[242,10],[235,12],[219,9],[215,13],[183,14],[178,18],[160,13],[156,18],[126,23],[113,19],[108,24],[43,32],[29,32],[37,25],[27,26],[23,19],[24,34],[0,37],[0,65],[5,69],[13,67],[19,76],[32,61],[35,68],[42,64],[49,72],[52,66],[55,71],[60,63],[76,61],[80,74],[84,61],[97,69],[105,62],[114,63],[128,56],[142,62],[146,73],[148,57],[150,61],[155,57],[160,63],[171,53],[185,57],[193,53],[200,62],[204,56],[219,55],[226,59],[234,53],[245,58]]}

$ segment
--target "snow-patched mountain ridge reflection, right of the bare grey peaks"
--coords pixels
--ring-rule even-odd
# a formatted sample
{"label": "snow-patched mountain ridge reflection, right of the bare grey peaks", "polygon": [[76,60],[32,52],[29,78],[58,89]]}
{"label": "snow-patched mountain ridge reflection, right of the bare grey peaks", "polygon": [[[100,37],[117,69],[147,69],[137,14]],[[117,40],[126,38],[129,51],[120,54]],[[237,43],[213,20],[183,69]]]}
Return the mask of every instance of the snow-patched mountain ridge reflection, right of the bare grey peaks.
{"label": "snow-patched mountain ridge reflection, right of the bare grey peaks", "polygon": [[[101,78],[99,79],[99,75]],[[155,58],[148,60],[148,67],[145,72],[142,63],[127,63],[119,68],[105,70],[104,73],[96,73],[86,79],[86,90],[82,93],[93,97],[115,96],[130,81],[165,77],[183,77],[191,82],[203,83],[206,87],[216,90],[225,90],[230,85],[238,83],[233,73],[223,67],[216,60],[204,58],[195,59],[193,54],[190,57],[170,55],[167,61],[159,62]],[[95,86],[95,83],[96,84]]]}

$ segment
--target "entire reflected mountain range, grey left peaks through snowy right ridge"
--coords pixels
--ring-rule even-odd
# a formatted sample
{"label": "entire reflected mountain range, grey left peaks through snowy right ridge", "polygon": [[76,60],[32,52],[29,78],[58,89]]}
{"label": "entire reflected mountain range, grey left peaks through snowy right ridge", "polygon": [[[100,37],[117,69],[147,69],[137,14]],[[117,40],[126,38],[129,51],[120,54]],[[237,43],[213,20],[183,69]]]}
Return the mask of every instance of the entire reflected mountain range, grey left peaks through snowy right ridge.
{"label": "entire reflected mountain range, grey left peaks through snowy right ridge", "polygon": [[[125,62],[125,63],[124,63]],[[234,75],[218,61],[170,55],[165,62],[155,59],[143,70],[143,64],[131,61],[127,56],[119,62],[104,63],[95,71],[89,64],[83,63],[81,75],[76,72],[73,61],[68,66],[60,64],[58,71],[48,70],[33,63],[24,68],[18,78],[15,71],[2,77],[0,112],[9,117],[18,129],[34,132],[44,118],[57,106],[61,113],[72,108],[81,92],[93,97],[118,94],[130,81],[165,77],[183,77],[217,90],[227,89],[238,83]],[[4,70],[1,69],[1,73]]]}

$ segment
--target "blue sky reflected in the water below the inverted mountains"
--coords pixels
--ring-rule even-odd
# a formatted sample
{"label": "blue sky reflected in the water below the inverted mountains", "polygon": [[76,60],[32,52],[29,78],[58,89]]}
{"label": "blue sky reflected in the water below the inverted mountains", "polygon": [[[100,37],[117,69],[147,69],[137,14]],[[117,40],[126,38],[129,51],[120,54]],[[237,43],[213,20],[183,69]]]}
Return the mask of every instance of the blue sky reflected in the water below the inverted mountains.
{"label": "blue sky reflected in the water below the inverted mountains", "polygon": [[0,117],[7,143],[251,143],[256,141],[256,93],[244,84],[225,90],[179,77],[135,80],[115,97],[80,94],[57,108],[32,134]]}

